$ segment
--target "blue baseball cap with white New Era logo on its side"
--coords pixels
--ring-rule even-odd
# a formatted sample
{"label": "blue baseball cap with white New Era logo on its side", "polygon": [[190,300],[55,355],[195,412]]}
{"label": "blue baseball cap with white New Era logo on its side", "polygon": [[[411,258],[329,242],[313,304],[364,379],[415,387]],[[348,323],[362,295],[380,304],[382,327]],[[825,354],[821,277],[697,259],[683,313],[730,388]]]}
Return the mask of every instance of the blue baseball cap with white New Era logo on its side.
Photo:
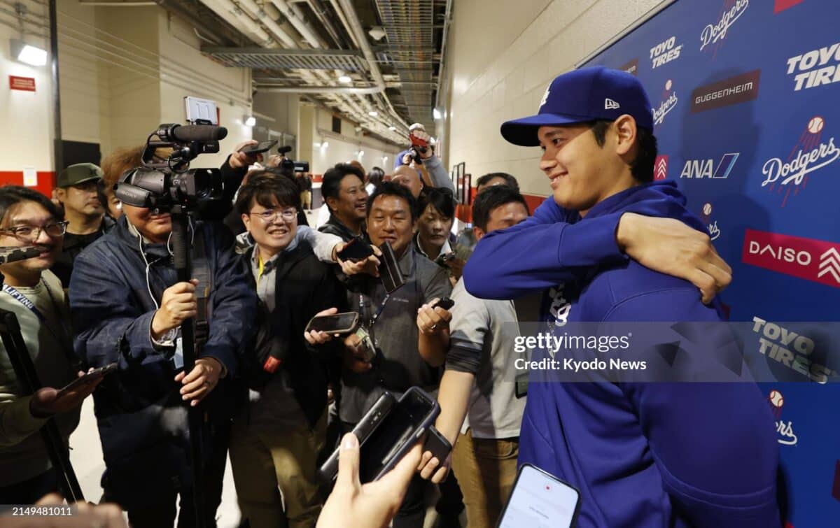
{"label": "blue baseball cap with white New Era logo on its side", "polygon": [[633,116],[636,126],[654,129],[654,114],[642,83],[624,71],[593,66],[555,77],[543,95],[537,115],[501,124],[512,144],[537,147],[540,127],[559,127],[596,119]]}

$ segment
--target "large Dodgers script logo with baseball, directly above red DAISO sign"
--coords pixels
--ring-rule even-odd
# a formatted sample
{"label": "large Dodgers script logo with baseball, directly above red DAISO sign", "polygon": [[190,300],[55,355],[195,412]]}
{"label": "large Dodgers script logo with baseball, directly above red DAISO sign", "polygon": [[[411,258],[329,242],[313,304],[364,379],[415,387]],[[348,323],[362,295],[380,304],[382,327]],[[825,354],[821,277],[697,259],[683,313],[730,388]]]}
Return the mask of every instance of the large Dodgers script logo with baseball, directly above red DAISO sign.
{"label": "large Dodgers script logo with baseball, directly above red DAISO sign", "polygon": [[782,207],[787,203],[791,189],[795,189],[795,195],[799,194],[800,186],[805,188],[811,172],[834,163],[840,157],[840,148],[834,145],[833,136],[828,139],[828,143],[822,142],[822,128],[825,123],[821,116],[814,116],[808,121],[787,160],[770,158],[764,162],[761,173],[765,179],[761,186],[769,186],[769,191],[775,191],[776,194],[781,194],[784,189]]}

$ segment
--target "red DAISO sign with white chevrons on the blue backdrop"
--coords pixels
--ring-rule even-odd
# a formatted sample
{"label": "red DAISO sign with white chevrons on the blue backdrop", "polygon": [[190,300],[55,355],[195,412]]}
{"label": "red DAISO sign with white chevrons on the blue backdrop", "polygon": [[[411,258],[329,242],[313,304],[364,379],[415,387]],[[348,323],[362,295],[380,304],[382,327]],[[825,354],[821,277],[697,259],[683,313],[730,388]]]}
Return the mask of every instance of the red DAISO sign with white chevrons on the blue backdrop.
{"label": "red DAISO sign with white chevrons on the blue backdrop", "polygon": [[840,243],[747,229],[744,264],[840,288]]}

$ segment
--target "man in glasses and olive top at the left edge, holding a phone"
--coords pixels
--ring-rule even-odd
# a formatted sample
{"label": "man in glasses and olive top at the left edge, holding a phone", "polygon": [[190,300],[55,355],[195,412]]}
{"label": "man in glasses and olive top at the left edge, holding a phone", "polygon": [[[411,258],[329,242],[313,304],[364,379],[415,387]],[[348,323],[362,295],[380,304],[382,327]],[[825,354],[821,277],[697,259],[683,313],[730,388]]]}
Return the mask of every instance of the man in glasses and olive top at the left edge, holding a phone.
{"label": "man in glasses and olive top at the left edge, holding a phone", "polygon": [[34,395],[21,395],[21,382],[0,344],[0,504],[33,504],[58,490],[59,476],[38,431],[54,418],[66,445],[79,423],[82,400],[98,383],[84,384],[60,397],[56,389],[73,380],[78,363],[66,324],[64,290],[49,269],[61,253],[65,228],[55,204],[39,192],[20,186],[0,188],[0,246],[34,246],[41,252],[33,259],[0,266],[5,280],[0,308],[18,318],[36,374],[45,384]]}

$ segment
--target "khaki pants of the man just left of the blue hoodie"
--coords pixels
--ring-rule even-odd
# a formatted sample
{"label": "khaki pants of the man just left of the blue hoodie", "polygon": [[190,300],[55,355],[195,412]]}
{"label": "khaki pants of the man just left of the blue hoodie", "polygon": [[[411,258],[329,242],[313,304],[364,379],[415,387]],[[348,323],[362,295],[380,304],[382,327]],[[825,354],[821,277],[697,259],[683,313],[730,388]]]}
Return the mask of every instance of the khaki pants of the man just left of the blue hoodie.
{"label": "khaki pants of the man just left of the blue hoodie", "polygon": [[519,438],[473,438],[472,430],[458,436],[452,453],[452,470],[458,478],[467,525],[491,528],[517,478]]}

